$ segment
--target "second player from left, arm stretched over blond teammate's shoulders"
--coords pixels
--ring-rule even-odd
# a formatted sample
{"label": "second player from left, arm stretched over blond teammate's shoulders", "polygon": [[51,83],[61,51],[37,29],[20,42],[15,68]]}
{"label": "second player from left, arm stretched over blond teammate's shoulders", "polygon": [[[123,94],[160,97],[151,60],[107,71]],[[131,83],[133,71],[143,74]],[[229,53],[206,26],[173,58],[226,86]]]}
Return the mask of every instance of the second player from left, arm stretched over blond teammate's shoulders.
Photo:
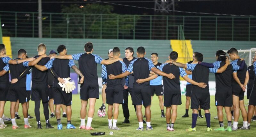
{"label": "second player from left, arm stretched over blond teammate's shoulders", "polygon": [[[18,51],[17,59],[26,59],[26,56],[27,56],[27,52],[24,49],[20,49]],[[18,99],[19,99],[19,103],[21,103],[22,110],[23,110],[23,116],[24,116],[24,122],[25,122],[24,128],[31,128],[31,126],[28,123],[28,108],[27,108],[28,96],[26,91],[26,76],[19,79],[19,74],[21,73],[22,75],[27,75],[27,73],[30,70],[30,66],[34,66],[44,57],[46,57],[46,54],[42,54],[40,57],[38,57],[34,61],[29,61],[29,62],[26,61],[18,65],[9,64],[12,81],[8,90],[7,99],[11,101],[10,113],[12,118],[12,129],[19,128],[14,119],[15,105]],[[24,69],[25,71],[22,72],[22,70]]]}

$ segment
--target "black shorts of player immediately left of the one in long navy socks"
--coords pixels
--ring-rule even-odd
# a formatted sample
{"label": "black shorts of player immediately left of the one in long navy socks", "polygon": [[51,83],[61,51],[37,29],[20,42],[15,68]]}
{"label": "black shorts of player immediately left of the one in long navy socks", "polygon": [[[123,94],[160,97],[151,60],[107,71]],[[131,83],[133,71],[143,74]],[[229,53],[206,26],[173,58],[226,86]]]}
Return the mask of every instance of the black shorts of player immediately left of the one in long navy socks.
{"label": "black shorts of player immediately left of the one in long navy socks", "polygon": [[181,94],[164,94],[164,106],[181,105]]}

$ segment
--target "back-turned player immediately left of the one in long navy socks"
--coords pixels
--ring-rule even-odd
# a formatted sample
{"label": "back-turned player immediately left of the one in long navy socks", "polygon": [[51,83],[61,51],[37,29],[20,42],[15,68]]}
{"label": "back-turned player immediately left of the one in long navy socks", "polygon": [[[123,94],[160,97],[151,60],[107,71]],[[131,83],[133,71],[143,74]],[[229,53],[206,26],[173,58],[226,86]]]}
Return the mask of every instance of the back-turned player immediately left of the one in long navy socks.
{"label": "back-turned player immediately left of the one in long navy socks", "polygon": [[[178,58],[178,53],[172,51],[169,55],[170,61],[176,61]],[[188,78],[186,72],[183,68],[177,67],[171,63],[164,63],[159,67],[159,70],[165,73],[172,73],[175,76],[175,79],[169,79],[164,77],[164,106],[166,107],[166,125],[168,131],[175,131],[174,130],[174,123],[177,118],[177,107],[181,105],[181,94],[180,94],[180,77],[183,77],[186,81],[197,85],[201,88],[205,88],[205,83],[197,83],[192,79]],[[157,77],[151,76],[151,77]],[[149,77],[150,78],[150,77]],[[149,79],[148,78],[148,79]],[[145,82],[146,79],[143,81],[137,80],[138,83]],[[172,113],[171,113],[172,111]],[[170,124],[171,119],[171,124]]]}

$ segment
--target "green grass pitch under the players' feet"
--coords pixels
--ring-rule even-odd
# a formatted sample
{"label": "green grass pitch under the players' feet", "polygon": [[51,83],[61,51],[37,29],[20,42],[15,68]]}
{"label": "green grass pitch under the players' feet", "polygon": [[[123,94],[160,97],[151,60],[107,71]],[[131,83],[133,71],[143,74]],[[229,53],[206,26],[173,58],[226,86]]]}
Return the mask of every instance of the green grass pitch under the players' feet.
{"label": "green grass pitch under the players' feet", "polygon": [[[130,101],[130,100],[129,100]],[[129,102],[129,110],[130,110],[130,124],[122,124],[124,120],[122,106],[119,107],[119,117],[117,121],[117,126],[121,128],[119,131],[113,131],[113,136],[140,136],[140,137],[148,137],[148,136],[255,136],[256,134],[256,122],[251,123],[251,130],[244,131],[244,130],[238,130],[233,131],[231,133],[229,132],[206,132],[206,122],[205,118],[203,119],[197,119],[197,125],[196,125],[196,132],[186,132],[185,130],[191,126],[191,113],[192,111],[189,110],[189,118],[181,118],[181,116],[185,113],[185,102],[186,97],[182,96],[182,105],[178,106],[178,116],[176,123],[174,125],[175,132],[168,132],[166,131],[166,122],[165,118],[161,118],[161,111],[159,108],[159,102],[156,96],[153,97],[152,106],[151,106],[151,126],[153,127],[152,131],[136,131],[136,128],[139,126],[136,114],[134,111],[134,108],[132,106],[132,102]],[[245,102],[247,103],[248,100],[245,99]],[[95,106],[95,114],[94,119],[92,121],[92,127],[95,128],[94,131],[86,131],[79,129],[80,125],[80,96],[79,95],[73,95],[73,102],[72,102],[72,124],[76,126],[76,129],[66,129],[67,121],[64,118],[61,118],[63,130],[57,130],[57,122],[56,118],[51,118],[50,122],[54,126],[54,129],[45,129],[45,122],[44,122],[44,114],[43,114],[43,106],[40,107],[40,117],[41,117],[41,123],[43,126],[43,129],[38,130],[36,129],[36,118],[29,119],[29,123],[32,126],[31,129],[24,129],[24,120],[22,115],[22,108],[20,106],[19,115],[21,119],[16,120],[17,125],[20,126],[20,129],[12,130],[12,122],[5,122],[7,127],[5,129],[0,130],[0,136],[18,136],[18,137],[29,137],[29,136],[89,136],[90,132],[106,132],[107,136],[109,135],[109,132],[112,130],[108,129],[108,118],[107,116],[105,118],[99,118],[97,116],[97,111],[99,107],[102,104],[101,98],[96,101]],[[214,105],[214,96],[211,96],[211,126],[212,129],[219,127],[219,122],[217,119],[213,119],[217,115],[216,107]],[[10,108],[10,102],[7,102],[5,105],[5,112],[4,114],[7,117],[10,117],[9,113]],[[165,110],[164,110],[165,112]],[[34,114],[34,102],[30,101],[30,107],[29,107],[29,113],[31,116],[35,116]],[[204,116],[204,112],[202,110],[202,115]],[[238,126],[243,125],[243,120],[239,118]],[[86,118],[87,119],[87,118]],[[86,122],[86,121],[85,121]],[[226,115],[224,115],[224,125],[227,126],[227,120]],[[146,124],[144,124],[144,129],[146,127]]]}

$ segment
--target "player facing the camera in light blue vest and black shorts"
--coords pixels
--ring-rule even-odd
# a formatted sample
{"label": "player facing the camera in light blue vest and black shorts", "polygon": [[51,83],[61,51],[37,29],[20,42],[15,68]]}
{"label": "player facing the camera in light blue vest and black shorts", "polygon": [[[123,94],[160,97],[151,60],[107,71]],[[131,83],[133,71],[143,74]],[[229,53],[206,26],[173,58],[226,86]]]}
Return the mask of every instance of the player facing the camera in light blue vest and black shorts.
{"label": "player facing the camera in light blue vest and black shorts", "polygon": [[[154,64],[154,66],[158,69],[162,63],[158,62],[158,54],[152,53],[151,54],[151,60]],[[150,75],[154,75],[155,73],[150,71]],[[162,85],[162,76],[158,76],[156,79],[150,80],[150,91],[151,91],[151,101],[156,93],[156,96],[159,100],[159,106],[161,109],[161,118],[165,118],[164,116],[164,102],[163,102],[163,85]]]}

